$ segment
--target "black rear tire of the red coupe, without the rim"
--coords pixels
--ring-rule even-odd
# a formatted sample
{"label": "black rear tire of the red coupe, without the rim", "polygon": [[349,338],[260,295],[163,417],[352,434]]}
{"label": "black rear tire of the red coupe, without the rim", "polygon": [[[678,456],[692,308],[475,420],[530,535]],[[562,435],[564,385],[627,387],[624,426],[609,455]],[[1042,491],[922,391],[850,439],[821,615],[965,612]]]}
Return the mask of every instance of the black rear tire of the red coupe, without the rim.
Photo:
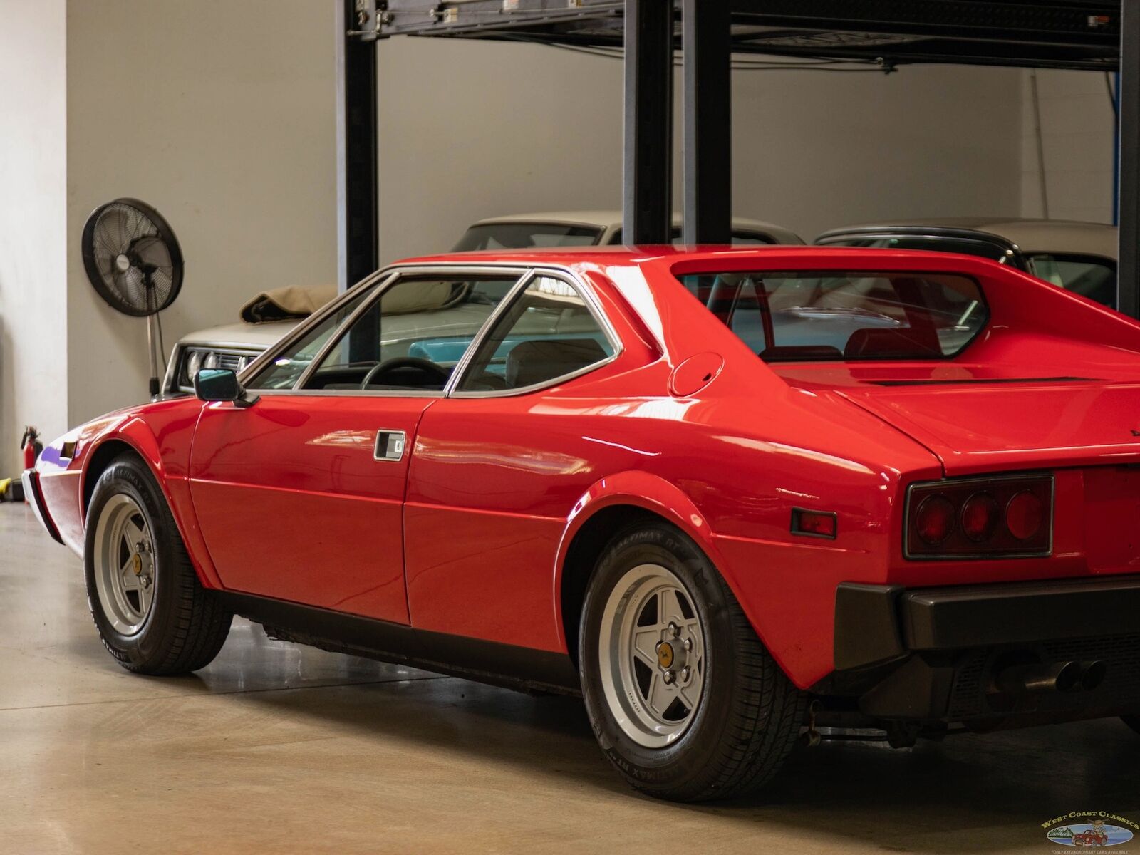
{"label": "black rear tire of the red coupe, without the rim", "polygon": [[[669,746],[646,748],[618,724],[605,698],[598,648],[611,592],[646,563],[684,584],[702,621],[705,686],[687,728]],[[799,691],[757,638],[719,572],[667,524],[630,529],[609,545],[591,578],[579,633],[583,695],[610,763],[636,789],[675,801],[747,796],[766,784],[796,744],[807,711]]]}

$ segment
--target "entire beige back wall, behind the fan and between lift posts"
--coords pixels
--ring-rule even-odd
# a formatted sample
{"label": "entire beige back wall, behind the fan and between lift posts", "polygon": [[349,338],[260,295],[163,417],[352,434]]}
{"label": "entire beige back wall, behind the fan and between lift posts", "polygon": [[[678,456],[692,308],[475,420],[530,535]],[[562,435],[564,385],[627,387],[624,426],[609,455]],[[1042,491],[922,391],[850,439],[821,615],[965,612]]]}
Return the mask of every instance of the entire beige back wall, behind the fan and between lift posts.
{"label": "entire beige back wall, behind the fan and between lift posts", "polygon": [[[46,425],[146,394],[145,323],[103,304],[83,274],[79,235],[97,204],[138,196],[181,239],[168,348],[255,290],[333,279],[334,2],[284,0],[272,15],[261,0],[67,2],[70,383],[65,418],[36,416]],[[620,63],[502,43],[378,50],[383,261],[447,249],[480,217],[619,205]],[[738,73],[736,212],[805,237],[1017,213],[1020,81],[954,67]]]}

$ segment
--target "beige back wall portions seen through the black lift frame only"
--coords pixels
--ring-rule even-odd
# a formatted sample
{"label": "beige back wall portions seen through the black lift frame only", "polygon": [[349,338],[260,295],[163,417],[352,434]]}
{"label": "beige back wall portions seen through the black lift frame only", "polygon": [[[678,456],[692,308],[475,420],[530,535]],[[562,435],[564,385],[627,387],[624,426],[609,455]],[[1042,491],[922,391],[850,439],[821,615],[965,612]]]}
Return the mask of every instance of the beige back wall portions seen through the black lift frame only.
{"label": "beige back wall portions seen through the black lift frame only", "polygon": [[[382,260],[447,249],[481,217],[620,205],[619,62],[430,39],[378,49]],[[735,211],[806,238],[877,218],[1015,215],[1019,101],[1016,70],[736,72]],[[679,171],[675,188],[679,201]]]}

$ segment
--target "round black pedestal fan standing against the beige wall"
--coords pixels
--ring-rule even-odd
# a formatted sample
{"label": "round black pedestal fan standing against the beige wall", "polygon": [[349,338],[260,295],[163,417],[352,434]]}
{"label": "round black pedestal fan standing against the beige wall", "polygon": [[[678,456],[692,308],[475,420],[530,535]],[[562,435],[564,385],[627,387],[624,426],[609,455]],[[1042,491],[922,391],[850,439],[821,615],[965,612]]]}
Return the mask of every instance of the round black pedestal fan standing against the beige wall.
{"label": "round black pedestal fan standing against the beige wall", "polygon": [[147,319],[150,397],[158,394],[158,364],[166,361],[158,312],[182,287],[178,238],[150,205],[117,198],[91,212],[82,249],[87,277],[99,296],[124,315]]}

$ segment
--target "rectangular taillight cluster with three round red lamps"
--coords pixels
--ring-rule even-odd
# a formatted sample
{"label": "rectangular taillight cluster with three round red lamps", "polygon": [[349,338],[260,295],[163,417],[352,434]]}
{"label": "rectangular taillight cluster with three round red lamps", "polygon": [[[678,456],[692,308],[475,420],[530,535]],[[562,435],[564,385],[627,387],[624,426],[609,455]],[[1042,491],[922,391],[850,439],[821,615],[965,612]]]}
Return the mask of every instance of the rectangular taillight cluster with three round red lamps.
{"label": "rectangular taillight cluster with three round red lamps", "polygon": [[909,559],[1048,555],[1053,477],[1008,475],[912,484],[906,497]]}

